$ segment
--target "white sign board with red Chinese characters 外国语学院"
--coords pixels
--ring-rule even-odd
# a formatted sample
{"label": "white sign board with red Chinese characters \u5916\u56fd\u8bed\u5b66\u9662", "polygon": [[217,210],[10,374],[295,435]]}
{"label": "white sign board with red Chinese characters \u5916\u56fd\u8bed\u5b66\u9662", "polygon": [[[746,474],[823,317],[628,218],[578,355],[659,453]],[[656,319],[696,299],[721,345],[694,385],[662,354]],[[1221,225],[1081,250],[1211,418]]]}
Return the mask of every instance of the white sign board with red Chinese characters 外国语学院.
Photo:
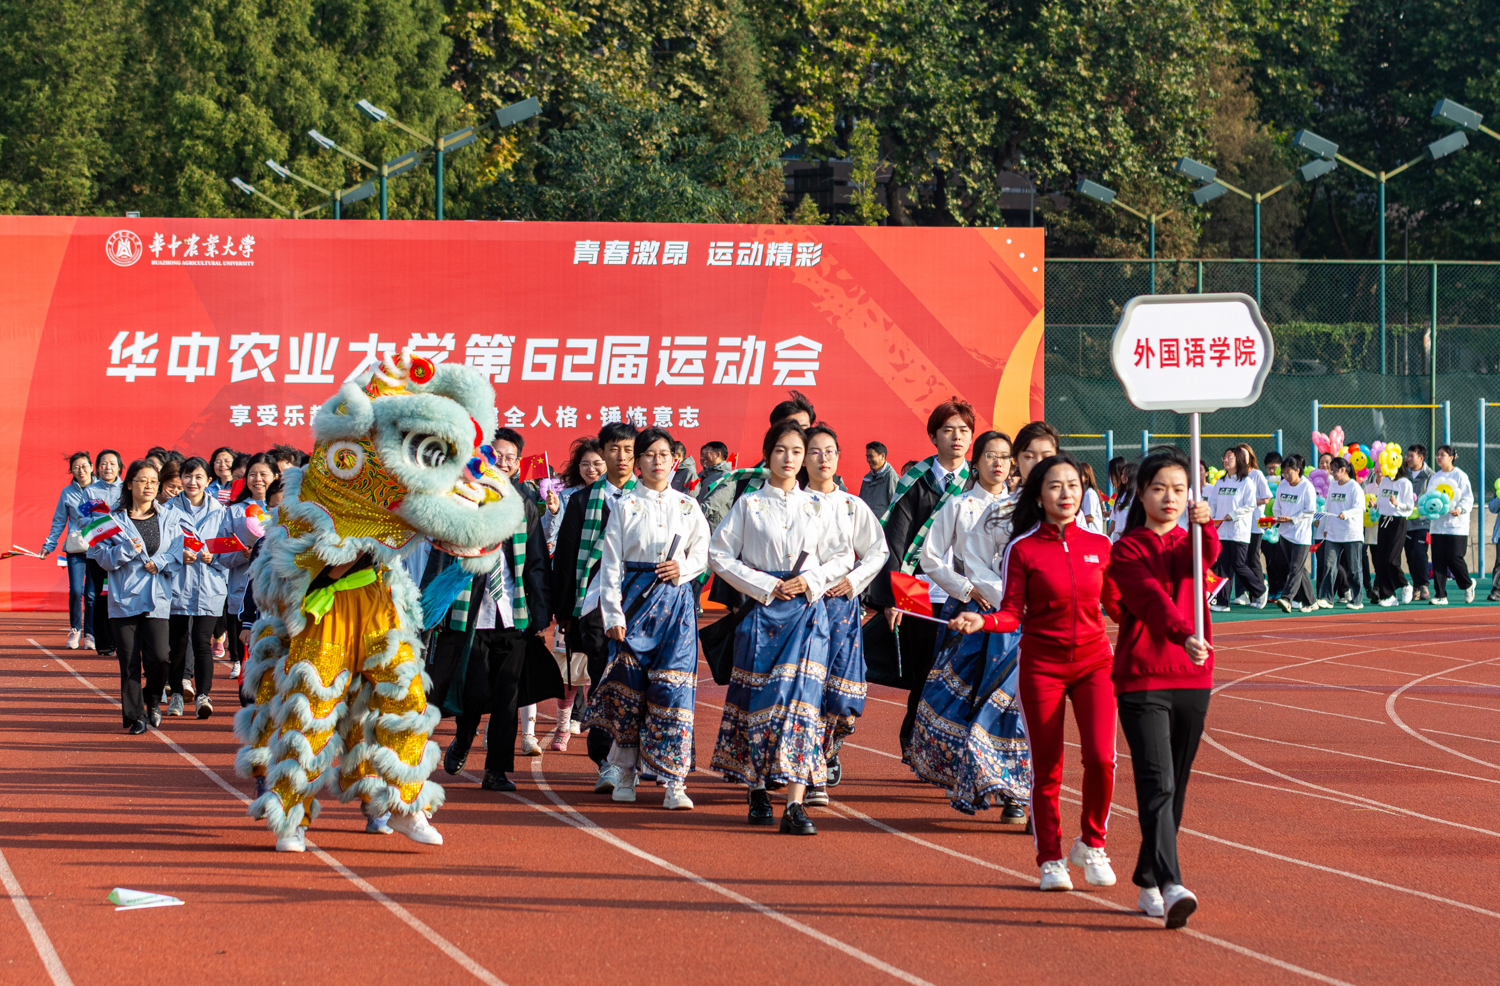
{"label": "white sign board with red Chinese characters \u5916\u56fd\u8bed\u5b66\u9662", "polygon": [[1190,414],[1258,401],[1274,356],[1248,294],[1143,294],[1125,305],[1110,359],[1131,404]]}

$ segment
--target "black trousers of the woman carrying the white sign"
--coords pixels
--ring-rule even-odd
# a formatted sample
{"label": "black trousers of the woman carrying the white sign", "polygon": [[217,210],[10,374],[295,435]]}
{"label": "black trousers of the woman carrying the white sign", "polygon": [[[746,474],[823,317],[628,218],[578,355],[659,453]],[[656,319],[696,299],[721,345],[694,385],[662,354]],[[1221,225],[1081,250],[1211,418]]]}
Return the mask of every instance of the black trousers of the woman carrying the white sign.
{"label": "black trousers of the woman carrying the white sign", "polygon": [[1136,885],[1180,884],[1178,828],[1182,827],[1192,758],[1209,714],[1209,689],[1122,692],[1119,714],[1130,743],[1136,810],[1140,812]]}

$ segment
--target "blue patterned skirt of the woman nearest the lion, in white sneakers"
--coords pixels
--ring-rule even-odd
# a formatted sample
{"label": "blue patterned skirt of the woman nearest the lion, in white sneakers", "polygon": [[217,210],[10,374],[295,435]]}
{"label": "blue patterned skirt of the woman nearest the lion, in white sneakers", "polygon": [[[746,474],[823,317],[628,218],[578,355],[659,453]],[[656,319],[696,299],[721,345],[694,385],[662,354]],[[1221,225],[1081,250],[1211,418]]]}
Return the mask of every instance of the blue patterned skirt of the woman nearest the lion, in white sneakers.
{"label": "blue patterned skirt of the woman nearest the lion, in white sneakers", "polygon": [[[624,609],[656,584],[656,564],[626,564]],[[609,663],[590,692],[584,728],[600,728],[621,747],[639,747],[644,765],[686,780],[693,771],[693,704],[698,699],[698,615],[693,584],[657,584],[626,627],[609,641]]]}

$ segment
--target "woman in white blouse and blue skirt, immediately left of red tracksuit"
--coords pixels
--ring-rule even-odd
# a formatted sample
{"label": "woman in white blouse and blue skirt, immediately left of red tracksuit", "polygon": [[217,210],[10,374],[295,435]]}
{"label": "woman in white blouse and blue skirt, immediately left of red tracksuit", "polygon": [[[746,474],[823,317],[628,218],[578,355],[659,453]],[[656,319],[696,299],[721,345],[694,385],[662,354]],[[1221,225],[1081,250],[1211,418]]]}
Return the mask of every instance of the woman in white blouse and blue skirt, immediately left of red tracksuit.
{"label": "woman in white blouse and blue skirt, immediately left of red tracksuit", "polygon": [[[933,518],[922,570],[948,593],[942,615],[994,612],[1005,594],[999,558],[1011,537],[1017,495],[1010,492],[1011,440],[987,431],[974,443],[975,486]],[[1002,803],[1000,822],[1022,824],[1030,795],[1030,756],[1016,702],[1017,633],[952,633],[938,639],[916,707],[910,765],[948,791],[968,815]]]}

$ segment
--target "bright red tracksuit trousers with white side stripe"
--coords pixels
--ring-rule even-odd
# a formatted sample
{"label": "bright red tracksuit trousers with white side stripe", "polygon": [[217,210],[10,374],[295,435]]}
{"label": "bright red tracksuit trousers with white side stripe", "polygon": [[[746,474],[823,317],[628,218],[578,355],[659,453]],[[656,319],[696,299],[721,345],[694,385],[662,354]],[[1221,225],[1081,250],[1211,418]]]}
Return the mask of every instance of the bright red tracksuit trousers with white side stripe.
{"label": "bright red tracksuit trousers with white side stripe", "polygon": [[1060,860],[1062,812],[1062,717],[1068,698],[1078,722],[1083,746],[1083,813],[1078,825],[1084,845],[1102,846],[1114,795],[1114,683],[1110,681],[1113,654],[1083,660],[1048,660],[1026,654],[1022,644],[1020,699],[1022,725],[1032,752],[1032,831],[1036,839],[1036,864]]}

